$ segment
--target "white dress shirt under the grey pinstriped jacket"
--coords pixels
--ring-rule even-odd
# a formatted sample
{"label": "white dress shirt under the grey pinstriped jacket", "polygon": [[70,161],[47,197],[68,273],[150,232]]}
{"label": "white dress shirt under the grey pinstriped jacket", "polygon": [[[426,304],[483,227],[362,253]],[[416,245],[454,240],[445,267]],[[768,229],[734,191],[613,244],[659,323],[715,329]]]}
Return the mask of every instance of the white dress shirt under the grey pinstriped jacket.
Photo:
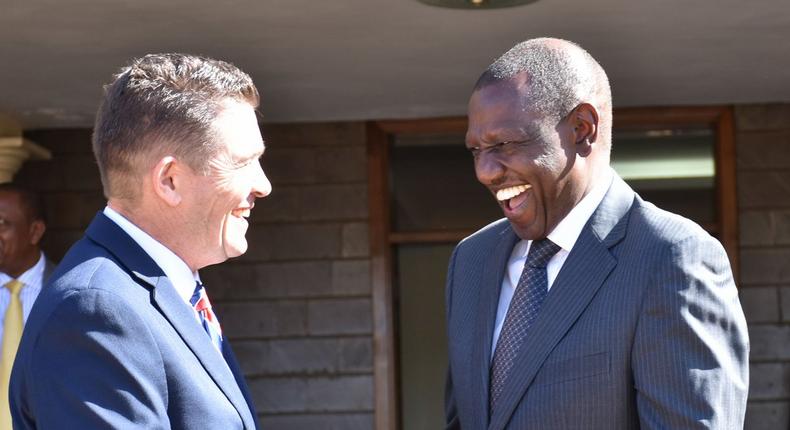
{"label": "white dress shirt under the grey pinstriped jacket", "polygon": [[[576,239],[587,224],[595,209],[601,204],[606,191],[612,184],[612,171],[607,169],[604,173],[606,175],[598,185],[596,185],[589,193],[587,193],[581,201],[568,212],[568,215],[563,218],[554,230],[548,235],[548,239],[560,246],[560,250],[549,260],[546,265],[546,278],[551,290],[554,280],[565,264],[573,245],[576,244]],[[505,271],[504,279],[502,279],[502,288],[499,293],[499,305],[497,306],[496,320],[494,321],[494,336],[491,343],[491,356],[493,357],[496,350],[496,343],[499,340],[499,333],[502,331],[502,325],[505,323],[505,316],[507,309],[510,307],[510,301],[513,299],[513,294],[516,292],[518,280],[521,277],[521,272],[524,270],[524,263],[527,261],[527,253],[529,247],[532,245],[531,240],[522,240],[516,243],[513,247],[513,252],[510,254],[510,260],[507,263],[507,270]]]}

